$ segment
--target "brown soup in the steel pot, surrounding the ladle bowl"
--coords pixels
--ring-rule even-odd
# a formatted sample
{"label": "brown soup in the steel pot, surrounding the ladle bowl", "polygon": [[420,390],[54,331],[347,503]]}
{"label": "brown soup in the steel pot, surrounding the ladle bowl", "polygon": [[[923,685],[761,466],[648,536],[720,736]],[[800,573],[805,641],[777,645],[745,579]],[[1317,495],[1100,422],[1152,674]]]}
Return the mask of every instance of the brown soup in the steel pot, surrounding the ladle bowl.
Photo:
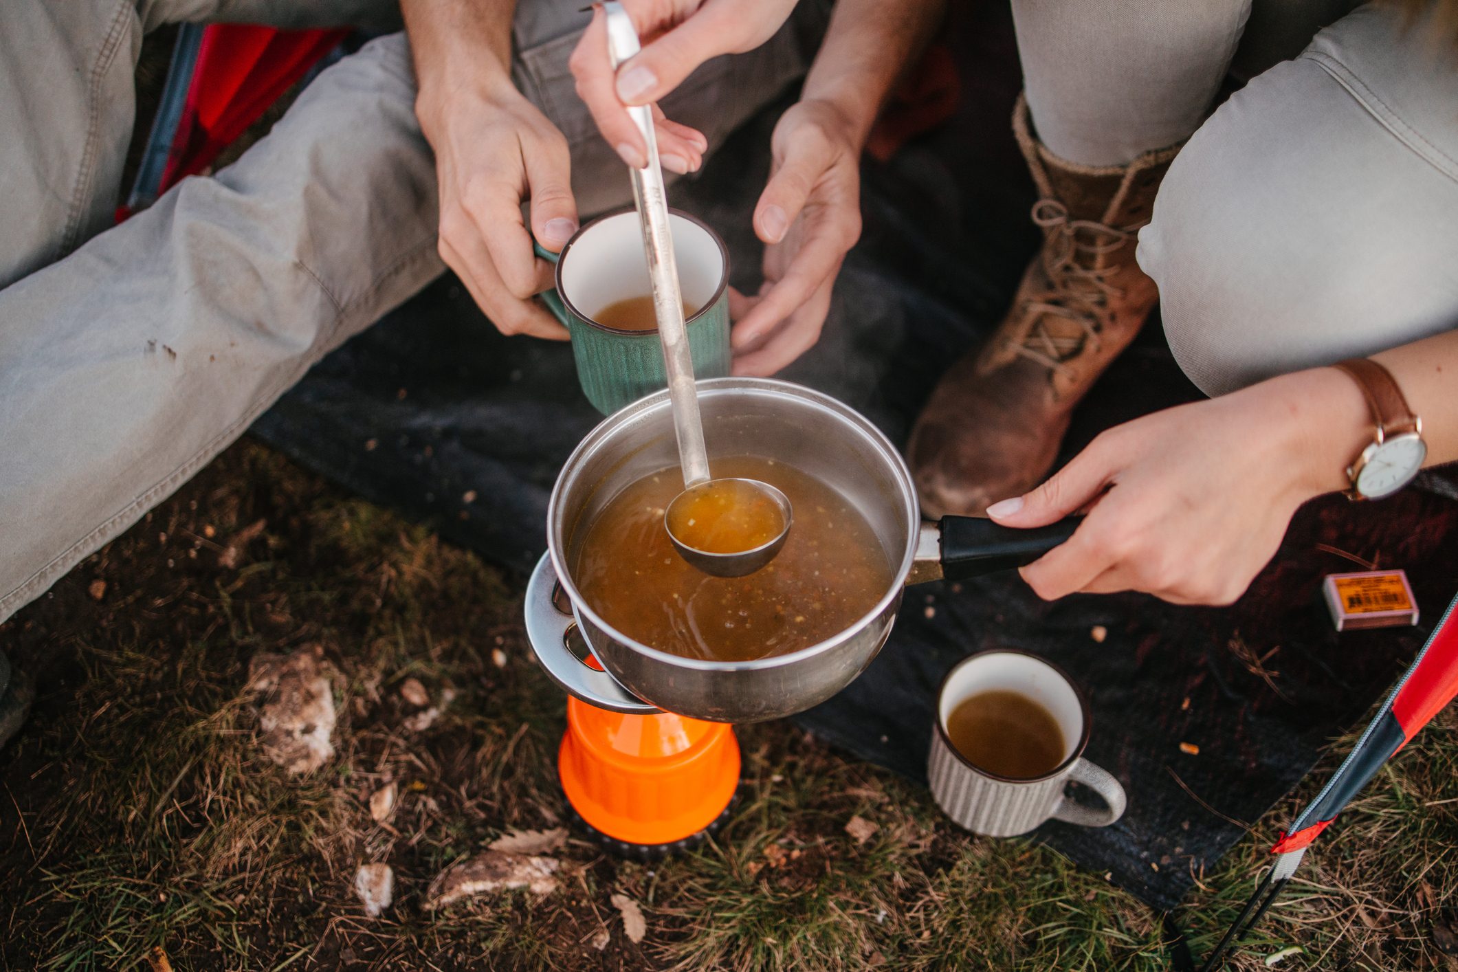
{"label": "brown soup in the steel pot, surrounding the ladle bowl", "polygon": [[783,549],[746,577],[712,577],[674,549],[663,510],[684,488],[678,466],[618,493],[586,526],[573,580],[583,600],[630,638],[691,659],[748,662],[831,638],[886,593],[892,565],[866,517],[795,466],[716,459],[716,478],[760,479],[790,500]]}

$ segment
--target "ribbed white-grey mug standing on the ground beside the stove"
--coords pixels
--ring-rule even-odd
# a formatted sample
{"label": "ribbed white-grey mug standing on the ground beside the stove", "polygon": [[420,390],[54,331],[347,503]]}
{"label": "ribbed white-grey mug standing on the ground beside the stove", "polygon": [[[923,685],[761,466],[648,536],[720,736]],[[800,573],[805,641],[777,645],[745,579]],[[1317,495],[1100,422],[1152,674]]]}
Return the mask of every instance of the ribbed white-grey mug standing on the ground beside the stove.
{"label": "ribbed white-grey mug standing on the ground beside the stove", "polygon": [[[1063,732],[1063,762],[1041,777],[1016,780],[974,765],[952,746],[948,720],[956,707],[972,695],[997,691],[1024,695],[1053,716]],[[1061,669],[1026,651],[981,651],[942,679],[927,758],[932,796],[955,823],[986,836],[1016,836],[1048,819],[1108,826],[1124,815],[1127,799],[1118,780],[1083,758],[1088,740],[1088,702]],[[1070,800],[1064,794],[1069,783],[1094,790],[1107,809]]]}

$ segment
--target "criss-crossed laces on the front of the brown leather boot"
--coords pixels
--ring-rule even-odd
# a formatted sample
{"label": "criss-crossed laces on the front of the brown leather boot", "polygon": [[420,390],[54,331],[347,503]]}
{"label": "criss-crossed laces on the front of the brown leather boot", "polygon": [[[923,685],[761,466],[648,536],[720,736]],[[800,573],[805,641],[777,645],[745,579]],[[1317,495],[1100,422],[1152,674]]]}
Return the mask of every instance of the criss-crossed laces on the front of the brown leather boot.
{"label": "criss-crossed laces on the front of the brown leather boot", "polygon": [[[1098,258],[1117,251],[1134,233],[1095,220],[1069,219],[1067,207],[1057,200],[1038,200],[1032,222],[1048,233],[1042,267],[1051,286],[1028,302],[1034,324],[1013,350],[1064,373],[1070,370],[1064,361],[1085,345],[1099,350],[1108,302],[1123,296],[1123,290],[1108,281],[1110,271],[1099,267]],[[1072,321],[1082,334],[1051,334],[1045,324],[1048,316]]]}

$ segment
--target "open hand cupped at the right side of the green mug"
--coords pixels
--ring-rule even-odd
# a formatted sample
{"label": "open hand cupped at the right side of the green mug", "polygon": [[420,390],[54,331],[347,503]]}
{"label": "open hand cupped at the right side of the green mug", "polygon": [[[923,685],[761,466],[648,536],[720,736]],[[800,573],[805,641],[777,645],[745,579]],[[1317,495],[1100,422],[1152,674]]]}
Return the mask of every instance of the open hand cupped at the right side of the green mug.
{"label": "open hand cupped at the right side of the green mug", "polygon": [[730,290],[735,375],[774,375],[819,340],[831,287],[860,238],[860,141],[827,101],[786,111],[770,140],[770,181],[754,210],[764,251],[764,286]]}

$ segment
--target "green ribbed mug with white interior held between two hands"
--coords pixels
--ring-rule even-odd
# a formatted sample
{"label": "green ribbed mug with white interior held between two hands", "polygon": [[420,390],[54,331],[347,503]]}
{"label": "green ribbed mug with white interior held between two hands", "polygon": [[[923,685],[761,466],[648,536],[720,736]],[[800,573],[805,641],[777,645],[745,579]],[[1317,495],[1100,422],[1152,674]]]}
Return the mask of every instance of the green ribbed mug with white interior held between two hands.
{"label": "green ribbed mug with white interior held between two hands", "polygon": [[[688,347],[697,377],[729,373],[729,251],[703,222],[669,210],[674,256],[688,316]],[[573,235],[560,254],[537,254],[557,264],[557,287],[542,300],[572,334],[577,380],[588,401],[609,415],[668,386],[658,328],[623,331],[593,319],[604,307],[650,293],[643,236],[634,210],[609,213]]]}

